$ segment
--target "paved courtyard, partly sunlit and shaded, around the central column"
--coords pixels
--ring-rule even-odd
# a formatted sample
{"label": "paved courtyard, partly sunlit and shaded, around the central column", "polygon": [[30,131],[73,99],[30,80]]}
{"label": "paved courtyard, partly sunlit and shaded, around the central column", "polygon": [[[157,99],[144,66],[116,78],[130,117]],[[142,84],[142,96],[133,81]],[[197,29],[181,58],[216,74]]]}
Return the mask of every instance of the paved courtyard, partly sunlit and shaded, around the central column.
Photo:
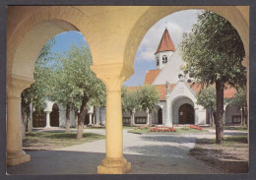
{"label": "paved courtyard, partly sunlit and shaded, around the central column", "polygon": [[[103,129],[86,129],[86,132],[105,134]],[[215,137],[209,134],[138,135],[123,130],[124,156],[132,162],[129,174],[204,174],[222,173],[188,151],[197,138]],[[244,135],[228,131],[225,135]],[[105,140],[56,150],[30,150],[32,160],[8,166],[9,174],[96,174],[96,166],[105,155]]]}

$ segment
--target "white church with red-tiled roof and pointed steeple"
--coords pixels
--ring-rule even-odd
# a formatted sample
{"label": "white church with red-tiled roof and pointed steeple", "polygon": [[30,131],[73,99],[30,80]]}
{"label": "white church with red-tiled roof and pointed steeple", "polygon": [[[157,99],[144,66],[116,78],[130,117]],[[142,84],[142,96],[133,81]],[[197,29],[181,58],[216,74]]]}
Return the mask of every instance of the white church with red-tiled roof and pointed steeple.
{"label": "white church with red-tiled roof and pointed steeple", "polygon": [[[181,70],[184,61],[179,48],[175,48],[167,29],[163,31],[160,44],[155,52],[156,69],[150,70],[145,76],[144,84],[154,85],[160,93],[160,101],[156,111],[152,112],[154,125],[173,126],[173,124],[206,125],[210,116],[203,106],[196,103],[196,94],[200,91],[199,84],[193,84],[193,78]],[[128,87],[128,90],[138,90],[139,87]],[[224,97],[231,98],[233,89],[224,90]],[[94,111],[95,110],[95,111]],[[65,109],[54,102],[46,101],[43,118],[33,116],[33,126],[65,127]],[[41,120],[39,120],[41,119]],[[45,121],[46,119],[46,121]],[[75,112],[71,112],[71,126],[75,126]],[[35,123],[34,123],[35,122]],[[224,105],[224,124],[240,124],[241,111],[230,104]],[[36,124],[37,123],[37,124]],[[39,124],[38,124],[39,123]],[[90,107],[86,117],[86,125],[104,125],[105,108]],[[134,109],[134,115],[123,111],[123,124],[133,126],[149,125],[149,112]]]}

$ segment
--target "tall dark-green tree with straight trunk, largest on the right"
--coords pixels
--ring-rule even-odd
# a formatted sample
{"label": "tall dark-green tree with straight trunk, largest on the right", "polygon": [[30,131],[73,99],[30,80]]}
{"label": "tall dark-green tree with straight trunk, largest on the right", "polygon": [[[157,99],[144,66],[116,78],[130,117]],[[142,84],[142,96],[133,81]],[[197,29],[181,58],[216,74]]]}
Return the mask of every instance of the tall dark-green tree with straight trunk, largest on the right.
{"label": "tall dark-green tree with straight trunk, largest on the right", "polygon": [[197,24],[181,43],[185,71],[202,86],[216,86],[216,141],[224,143],[224,88],[246,83],[243,43],[236,30],[224,18],[204,11]]}

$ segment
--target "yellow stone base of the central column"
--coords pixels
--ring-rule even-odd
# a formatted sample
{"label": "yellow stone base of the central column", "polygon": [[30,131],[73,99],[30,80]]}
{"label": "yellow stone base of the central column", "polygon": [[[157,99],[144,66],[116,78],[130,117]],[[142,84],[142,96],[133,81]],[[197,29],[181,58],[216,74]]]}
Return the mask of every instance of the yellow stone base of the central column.
{"label": "yellow stone base of the central column", "polygon": [[131,170],[131,162],[127,162],[124,157],[105,157],[102,164],[97,166],[98,174],[125,174]]}

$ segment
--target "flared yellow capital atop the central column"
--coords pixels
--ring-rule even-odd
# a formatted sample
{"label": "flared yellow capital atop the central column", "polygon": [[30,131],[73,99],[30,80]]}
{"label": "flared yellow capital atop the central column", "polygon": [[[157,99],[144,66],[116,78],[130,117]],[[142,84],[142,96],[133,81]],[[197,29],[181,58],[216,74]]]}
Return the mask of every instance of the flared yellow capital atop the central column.
{"label": "flared yellow capital atop the central column", "polygon": [[104,83],[107,92],[121,91],[123,82],[134,74],[134,70],[123,63],[93,65],[91,69],[96,73],[96,77]]}

